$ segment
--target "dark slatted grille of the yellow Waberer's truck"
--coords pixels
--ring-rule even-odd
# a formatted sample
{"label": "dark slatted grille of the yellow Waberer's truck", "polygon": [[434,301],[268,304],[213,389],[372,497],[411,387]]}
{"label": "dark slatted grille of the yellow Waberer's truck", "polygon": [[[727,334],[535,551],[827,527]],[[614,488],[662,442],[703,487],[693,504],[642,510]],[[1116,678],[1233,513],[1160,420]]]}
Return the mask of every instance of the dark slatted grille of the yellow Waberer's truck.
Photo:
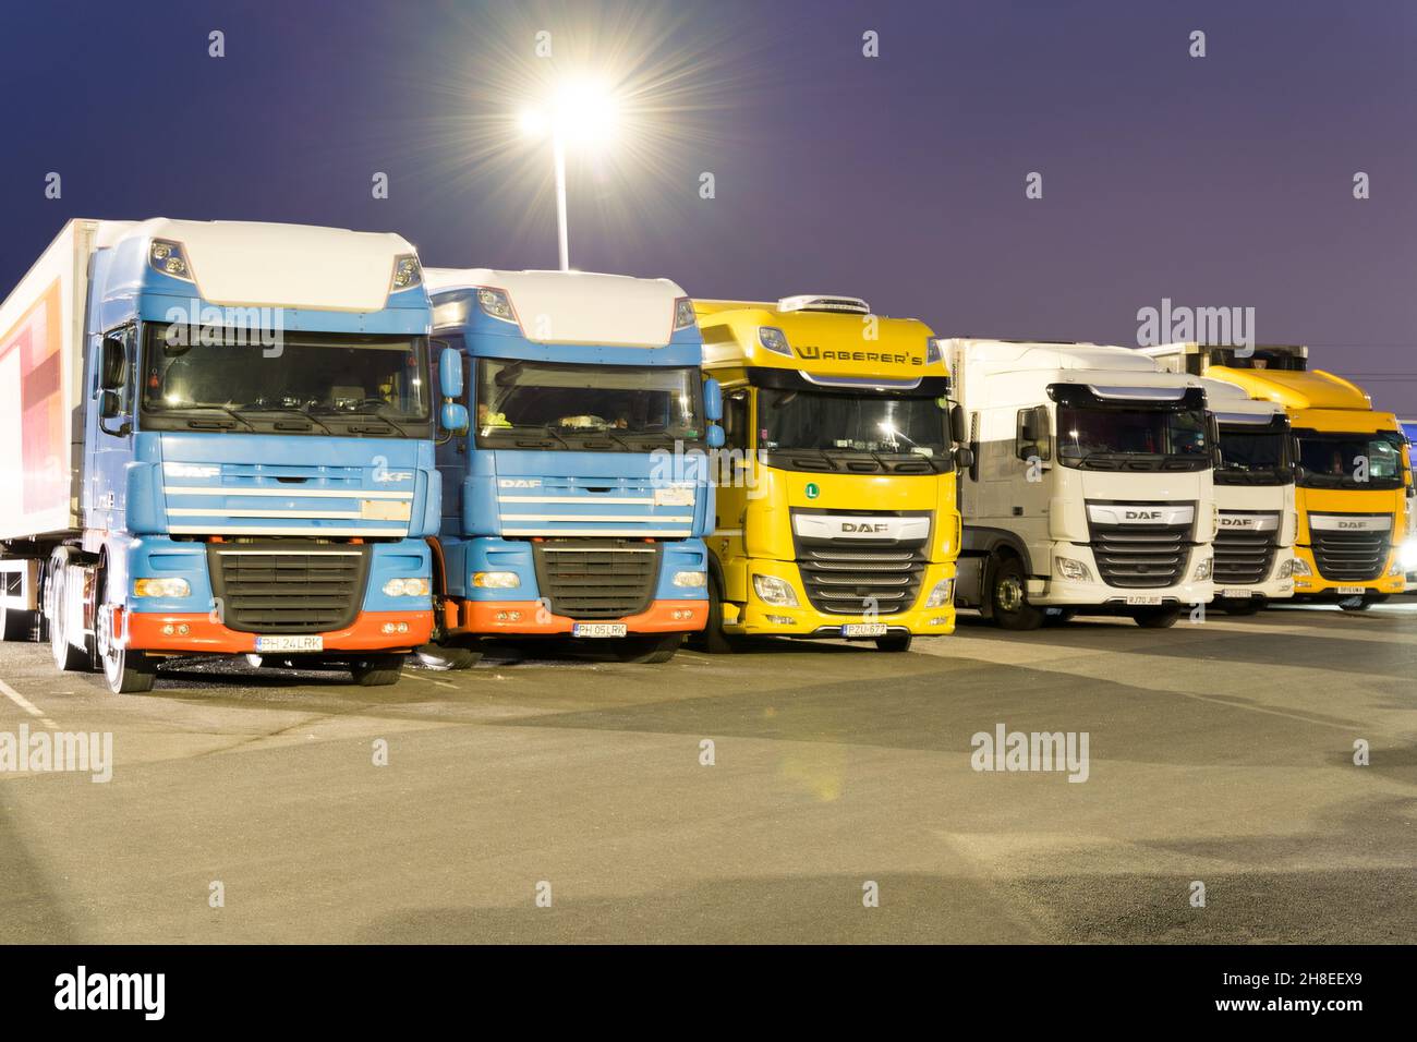
{"label": "dark slatted grille of the yellow Waberer's truck", "polygon": [[798,573],[818,611],[891,615],[908,611],[920,595],[928,539],[794,539]]}

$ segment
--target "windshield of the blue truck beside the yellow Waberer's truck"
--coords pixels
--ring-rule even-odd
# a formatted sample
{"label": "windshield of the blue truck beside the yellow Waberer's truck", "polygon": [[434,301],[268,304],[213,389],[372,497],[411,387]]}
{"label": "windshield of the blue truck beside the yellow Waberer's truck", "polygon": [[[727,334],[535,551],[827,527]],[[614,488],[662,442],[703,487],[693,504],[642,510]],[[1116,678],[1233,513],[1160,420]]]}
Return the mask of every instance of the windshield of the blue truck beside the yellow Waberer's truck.
{"label": "windshield of the blue truck beside the yellow Waberer's truck", "polygon": [[704,437],[699,370],[478,359],[478,444],[645,451]]}

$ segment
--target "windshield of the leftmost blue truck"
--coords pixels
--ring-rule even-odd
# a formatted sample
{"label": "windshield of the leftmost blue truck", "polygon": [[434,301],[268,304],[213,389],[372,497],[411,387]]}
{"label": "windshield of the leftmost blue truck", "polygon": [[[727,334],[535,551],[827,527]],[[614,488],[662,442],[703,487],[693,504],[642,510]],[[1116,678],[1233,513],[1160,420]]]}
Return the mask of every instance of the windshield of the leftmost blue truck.
{"label": "windshield of the leftmost blue truck", "polygon": [[425,337],[286,332],[266,346],[204,329],[188,344],[187,329],[147,325],[145,427],[404,437],[429,421]]}

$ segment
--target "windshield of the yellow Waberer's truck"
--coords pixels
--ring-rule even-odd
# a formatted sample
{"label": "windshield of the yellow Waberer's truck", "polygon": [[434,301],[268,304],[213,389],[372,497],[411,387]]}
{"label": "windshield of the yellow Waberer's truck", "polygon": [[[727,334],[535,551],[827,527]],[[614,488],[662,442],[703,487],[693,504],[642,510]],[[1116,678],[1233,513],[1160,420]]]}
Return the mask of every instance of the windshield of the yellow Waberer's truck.
{"label": "windshield of the yellow Waberer's truck", "polygon": [[945,410],[934,397],[826,394],[764,387],[758,448],[949,456]]}

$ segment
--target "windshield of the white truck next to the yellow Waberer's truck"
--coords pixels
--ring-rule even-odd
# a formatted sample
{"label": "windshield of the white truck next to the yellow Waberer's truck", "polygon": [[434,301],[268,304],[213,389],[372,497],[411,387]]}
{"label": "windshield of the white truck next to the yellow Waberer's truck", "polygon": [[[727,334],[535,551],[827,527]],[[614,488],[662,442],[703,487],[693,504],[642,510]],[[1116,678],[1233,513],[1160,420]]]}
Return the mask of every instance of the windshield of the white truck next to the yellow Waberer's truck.
{"label": "windshield of the white truck next to the yellow Waberer's truck", "polygon": [[1200,407],[1058,403],[1058,461],[1084,469],[1187,469],[1212,464]]}

